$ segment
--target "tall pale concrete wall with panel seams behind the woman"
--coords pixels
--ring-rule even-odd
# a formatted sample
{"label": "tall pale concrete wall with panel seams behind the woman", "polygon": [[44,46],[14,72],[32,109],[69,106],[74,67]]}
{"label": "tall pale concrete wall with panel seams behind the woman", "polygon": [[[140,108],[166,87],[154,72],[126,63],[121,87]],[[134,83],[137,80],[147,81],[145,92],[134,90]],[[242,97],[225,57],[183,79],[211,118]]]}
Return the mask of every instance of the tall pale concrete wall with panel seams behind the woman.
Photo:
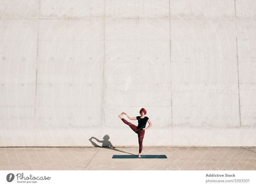
{"label": "tall pale concrete wall with panel seams behind the woman", "polygon": [[254,0],[2,0],[0,18],[0,146],[138,146],[118,114],[141,107],[144,146],[256,145]]}

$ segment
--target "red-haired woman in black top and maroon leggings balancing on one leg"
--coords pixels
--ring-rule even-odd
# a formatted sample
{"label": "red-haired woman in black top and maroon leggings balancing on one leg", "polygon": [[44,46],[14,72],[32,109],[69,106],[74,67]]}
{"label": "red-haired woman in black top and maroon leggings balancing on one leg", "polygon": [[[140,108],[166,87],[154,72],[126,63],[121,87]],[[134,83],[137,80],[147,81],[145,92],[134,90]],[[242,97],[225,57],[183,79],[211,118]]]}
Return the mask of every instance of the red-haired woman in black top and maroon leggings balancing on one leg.
{"label": "red-haired woman in black top and maroon leggings balancing on one leg", "polygon": [[[136,125],[133,125],[132,123],[126,121],[124,118],[123,118],[123,114],[126,115],[130,120],[138,120],[138,126]],[[129,125],[129,127],[138,134],[138,139],[139,139],[139,158],[141,158],[140,154],[141,154],[141,151],[142,151],[142,141],[143,141],[143,138],[144,138],[144,134],[145,134],[145,130],[148,130],[148,128],[150,128],[152,126],[152,123],[151,121],[148,119],[147,116],[145,116],[147,114],[147,111],[142,108],[140,109],[140,116],[137,116],[137,117],[131,117],[129,116],[127,113],[125,112],[122,112],[118,117],[121,118],[122,121],[124,121],[124,123],[126,125]],[[147,128],[146,127],[146,124],[147,124],[147,121],[149,123],[149,126]]]}

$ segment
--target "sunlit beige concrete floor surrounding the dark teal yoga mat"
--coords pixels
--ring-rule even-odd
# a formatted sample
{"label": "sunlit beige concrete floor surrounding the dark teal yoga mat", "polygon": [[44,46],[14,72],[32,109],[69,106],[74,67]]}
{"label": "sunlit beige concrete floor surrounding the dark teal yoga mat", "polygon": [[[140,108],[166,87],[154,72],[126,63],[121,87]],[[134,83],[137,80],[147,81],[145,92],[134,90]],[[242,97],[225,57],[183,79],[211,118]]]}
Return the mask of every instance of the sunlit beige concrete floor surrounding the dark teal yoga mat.
{"label": "sunlit beige concrete floor surrounding the dark teal yoga mat", "polygon": [[256,170],[256,147],[143,147],[167,159],[112,159],[138,147],[0,148],[1,170]]}

